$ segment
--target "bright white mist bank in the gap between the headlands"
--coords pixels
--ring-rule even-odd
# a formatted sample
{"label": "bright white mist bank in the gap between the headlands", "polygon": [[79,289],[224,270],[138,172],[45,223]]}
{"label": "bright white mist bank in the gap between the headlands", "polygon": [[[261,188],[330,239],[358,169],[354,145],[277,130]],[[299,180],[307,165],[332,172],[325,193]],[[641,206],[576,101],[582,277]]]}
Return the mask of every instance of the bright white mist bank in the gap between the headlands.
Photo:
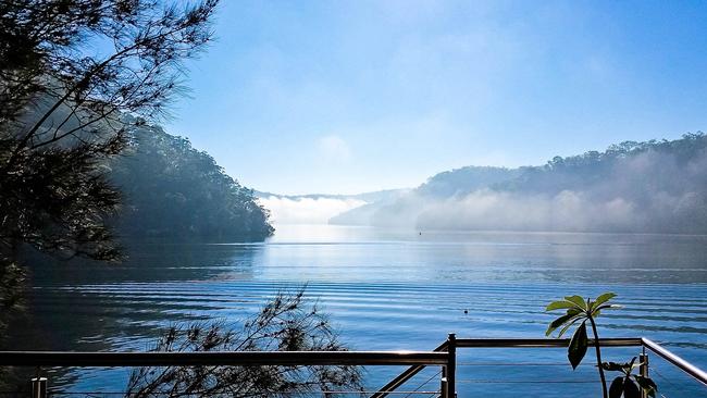
{"label": "bright white mist bank in the gap between the headlands", "polygon": [[290,199],[275,196],[259,201],[270,210],[273,224],[327,224],[331,217],[367,203],[359,199]]}

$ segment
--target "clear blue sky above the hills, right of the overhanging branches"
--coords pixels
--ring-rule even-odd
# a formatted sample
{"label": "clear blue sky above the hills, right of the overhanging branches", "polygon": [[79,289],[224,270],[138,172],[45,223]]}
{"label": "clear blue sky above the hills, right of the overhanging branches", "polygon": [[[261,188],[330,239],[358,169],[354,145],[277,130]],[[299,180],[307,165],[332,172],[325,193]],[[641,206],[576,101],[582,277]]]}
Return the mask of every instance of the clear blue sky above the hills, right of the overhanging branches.
{"label": "clear blue sky above the hills, right of the overhanging branches", "polygon": [[233,1],[171,134],[282,192],[707,129],[707,2]]}

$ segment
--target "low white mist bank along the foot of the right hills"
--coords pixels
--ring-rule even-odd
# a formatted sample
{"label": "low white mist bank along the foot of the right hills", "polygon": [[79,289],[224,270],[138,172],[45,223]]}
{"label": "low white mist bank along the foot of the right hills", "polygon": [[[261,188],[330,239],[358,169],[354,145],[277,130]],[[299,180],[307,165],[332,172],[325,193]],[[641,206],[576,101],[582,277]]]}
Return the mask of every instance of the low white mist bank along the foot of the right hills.
{"label": "low white mist bank along the foot of the right hills", "polygon": [[371,222],[421,229],[696,233],[705,211],[703,196],[694,191],[661,192],[636,202],[572,190],[523,195],[481,189],[446,199],[408,196],[380,209]]}

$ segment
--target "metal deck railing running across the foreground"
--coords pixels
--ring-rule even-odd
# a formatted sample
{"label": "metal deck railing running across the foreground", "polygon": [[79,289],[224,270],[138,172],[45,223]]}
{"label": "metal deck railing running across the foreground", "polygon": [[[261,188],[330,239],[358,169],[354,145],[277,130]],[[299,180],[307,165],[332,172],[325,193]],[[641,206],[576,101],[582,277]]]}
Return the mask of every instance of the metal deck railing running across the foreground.
{"label": "metal deck railing running across the foreground", "polygon": [[[642,374],[648,375],[647,353],[653,352],[690,375],[707,391],[707,373],[665,347],[647,338],[603,338],[600,347],[642,347]],[[596,343],[590,340],[590,346]],[[426,366],[441,366],[438,395],[456,396],[457,350],[461,348],[558,348],[567,347],[569,339],[532,338],[456,338],[450,334],[433,351],[236,351],[236,352],[70,352],[70,351],[0,351],[0,366],[171,366],[171,365],[409,365],[371,398],[384,398],[399,393],[399,388]],[[33,380],[33,398],[47,395],[46,380]],[[44,384],[42,384],[44,383]]]}

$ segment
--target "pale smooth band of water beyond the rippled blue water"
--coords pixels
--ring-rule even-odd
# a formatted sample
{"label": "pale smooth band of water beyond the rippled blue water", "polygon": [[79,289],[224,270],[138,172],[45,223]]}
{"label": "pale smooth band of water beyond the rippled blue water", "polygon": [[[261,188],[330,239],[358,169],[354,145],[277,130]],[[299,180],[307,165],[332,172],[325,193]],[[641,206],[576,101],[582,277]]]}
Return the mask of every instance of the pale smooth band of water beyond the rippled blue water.
{"label": "pale smooth band of water beyond the rippled blue water", "polygon": [[707,237],[282,226],[259,271],[276,281],[707,283]]}

